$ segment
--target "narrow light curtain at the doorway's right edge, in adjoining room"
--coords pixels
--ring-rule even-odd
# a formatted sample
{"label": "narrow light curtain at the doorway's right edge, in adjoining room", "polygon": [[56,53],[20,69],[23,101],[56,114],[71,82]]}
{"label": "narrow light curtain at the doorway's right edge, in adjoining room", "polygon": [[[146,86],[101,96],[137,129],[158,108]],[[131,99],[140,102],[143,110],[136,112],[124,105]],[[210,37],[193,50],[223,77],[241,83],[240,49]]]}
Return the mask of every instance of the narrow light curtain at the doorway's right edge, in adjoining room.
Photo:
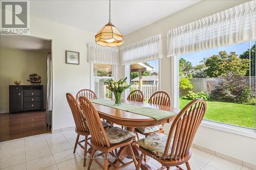
{"label": "narrow light curtain at the doorway's right edge, in adjoining room", "polygon": [[52,110],[52,56],[47,54],[47,99],[46,111]]}

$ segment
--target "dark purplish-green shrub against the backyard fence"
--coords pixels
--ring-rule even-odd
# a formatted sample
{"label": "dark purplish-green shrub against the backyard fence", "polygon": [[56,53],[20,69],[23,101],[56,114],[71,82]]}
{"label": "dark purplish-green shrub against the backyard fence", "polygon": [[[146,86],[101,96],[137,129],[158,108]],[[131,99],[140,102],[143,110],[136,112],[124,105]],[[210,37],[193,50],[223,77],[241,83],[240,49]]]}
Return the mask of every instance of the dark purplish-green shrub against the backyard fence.
{"label": "dark purplish-green shrub against the backyard fence", "polygon": [[246,81],[235,77],[228,77],[211,91],[211,98],[221,102],[246,104],[250,102],[251,97],[252,90],[249,89]]}

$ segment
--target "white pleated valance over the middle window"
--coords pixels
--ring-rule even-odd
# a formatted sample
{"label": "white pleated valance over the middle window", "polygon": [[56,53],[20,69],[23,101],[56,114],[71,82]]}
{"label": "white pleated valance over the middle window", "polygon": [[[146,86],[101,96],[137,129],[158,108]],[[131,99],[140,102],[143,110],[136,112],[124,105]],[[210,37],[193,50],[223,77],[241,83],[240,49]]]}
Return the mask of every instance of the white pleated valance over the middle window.
{"label": "white pleated valance over the middle window", "polygon": [[159,34],[121,47],[122,65],[160,58],[160,41]]}

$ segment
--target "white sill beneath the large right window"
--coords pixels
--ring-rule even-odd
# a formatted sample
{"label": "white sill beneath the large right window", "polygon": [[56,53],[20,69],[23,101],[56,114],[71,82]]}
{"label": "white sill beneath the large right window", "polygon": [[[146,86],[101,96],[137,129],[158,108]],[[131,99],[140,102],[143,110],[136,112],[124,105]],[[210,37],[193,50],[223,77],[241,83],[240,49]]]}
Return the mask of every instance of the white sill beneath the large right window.
{"label": "white sill beneath the large right window", "polygon": [[201,126],[256,139],[256,131],[253,129],[211,122],[209,120],[203,120]]}

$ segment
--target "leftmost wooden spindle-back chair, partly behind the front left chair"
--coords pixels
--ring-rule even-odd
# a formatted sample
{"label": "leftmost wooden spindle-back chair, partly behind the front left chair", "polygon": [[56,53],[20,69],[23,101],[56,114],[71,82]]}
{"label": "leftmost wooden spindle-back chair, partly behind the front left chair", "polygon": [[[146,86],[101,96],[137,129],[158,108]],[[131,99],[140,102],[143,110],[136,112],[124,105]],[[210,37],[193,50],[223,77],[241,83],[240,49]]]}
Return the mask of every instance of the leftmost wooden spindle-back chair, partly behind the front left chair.
{"label": "leftmost wooden spindle-back chair, partly behind the front left chair", "polygon": [[[76,143],[75,143],[73,153],[76,152],[77,144],[79,144],[80,147],[84,150],[83,166],[86,166],[87,144],[90,145],[90,143],[88,143],[88,139],[90,139],[88,138],[88,136],[90,135],[90,132],[86,125],[86,118],[84,118],[82,114],[82,110],[80,109],[74,96],[71,93],[67,93],[66,97],[75,121],[75,125],[76,125],[75,131],[77,133]],[[84,136],[84,140],[78,141],[80,135]],[[84,146],[81,144],[81,142],[84,142]]]}

